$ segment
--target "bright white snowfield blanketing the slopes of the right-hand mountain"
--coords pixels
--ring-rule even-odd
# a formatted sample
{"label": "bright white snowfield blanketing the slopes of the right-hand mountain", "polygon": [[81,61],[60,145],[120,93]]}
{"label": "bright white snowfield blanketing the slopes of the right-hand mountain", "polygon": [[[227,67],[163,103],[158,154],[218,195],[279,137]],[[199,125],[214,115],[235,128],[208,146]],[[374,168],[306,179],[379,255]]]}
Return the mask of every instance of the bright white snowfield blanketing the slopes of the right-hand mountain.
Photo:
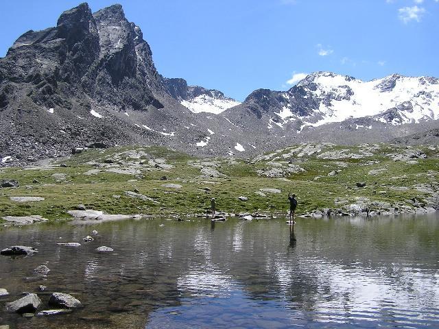
{"label": "bright white snowfield blanketing the slopes of the right-hand mountain", "polygon": [[[341,122],[349,118],[376,117],[392,125],[418,123],[439,119],[439,82],[434,77],[404,77],[389,75],[364,82],[353,77],[330,72],[313,73],[298,82],[305,91],[299,97],[312,97],[318,102],[314,113],[301,117],[305,125],[317,127],[325,123]],[[286,99],[297,97],[296,88],[288,90]],[[278,115],[294,117],[289,102]],[[393,110],[393,117],[389,117]],[[390,120],[389,120],[390,119]]]}

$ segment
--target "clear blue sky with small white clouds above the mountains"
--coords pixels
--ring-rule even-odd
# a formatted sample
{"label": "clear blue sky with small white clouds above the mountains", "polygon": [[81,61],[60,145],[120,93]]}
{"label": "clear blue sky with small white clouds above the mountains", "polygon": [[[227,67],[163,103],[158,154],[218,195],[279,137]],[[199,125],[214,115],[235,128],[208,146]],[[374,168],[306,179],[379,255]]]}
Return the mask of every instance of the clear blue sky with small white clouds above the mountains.
{"label": "clear blue sky with small white clouds above the mountains", "polygon": [[[0,56],[79,3],[2,1]],[[88,1],[93,12],[114,3],[141,27],[161,74],[239,100],[313,71],[439,77],[439,0]]]}

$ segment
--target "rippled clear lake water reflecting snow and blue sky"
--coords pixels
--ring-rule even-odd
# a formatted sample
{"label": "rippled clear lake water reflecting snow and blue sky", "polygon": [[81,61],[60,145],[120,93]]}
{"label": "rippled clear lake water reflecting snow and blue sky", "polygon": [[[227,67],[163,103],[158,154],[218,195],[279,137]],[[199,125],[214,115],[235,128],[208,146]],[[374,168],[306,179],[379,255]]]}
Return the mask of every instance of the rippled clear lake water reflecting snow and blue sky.
{"label": "rippled clear lake water reflecting snow and blue sky", "polygon": [[[437,328],[439,222],[432,217],[284,219],[215,223],[166,219],[56,224],[0,232],[0,247],[34,245],[0,258],[1,302],[37,292],[71,293],[81,310],[10,328]],[[161,225],[164,224],[164,225]],[[69,248],[91,230],[95,241]],[[113,247],[99,254],[100,245]],[[47,280],[27,282],[40,264]],[[28,280],[29,281],[29,280]]]}

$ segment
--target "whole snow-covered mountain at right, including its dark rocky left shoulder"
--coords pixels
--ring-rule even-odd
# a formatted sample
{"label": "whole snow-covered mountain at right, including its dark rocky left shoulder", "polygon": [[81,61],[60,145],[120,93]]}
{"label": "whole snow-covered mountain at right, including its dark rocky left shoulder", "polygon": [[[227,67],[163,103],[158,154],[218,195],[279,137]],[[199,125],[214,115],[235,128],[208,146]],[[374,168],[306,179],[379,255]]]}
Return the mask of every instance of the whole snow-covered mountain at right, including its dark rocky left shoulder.
{"label": "whole snow-covered mountain at right, including its dark rocky left shoulder", "polygon": [[[256,117],[266,129],[297,133],[360,118],[390,125],[433,121],[439,119],[439,80],[394,74],[364,82],[316,72],[287,91],[255,90],[241,106],[225,114],[250,114],[247,121],[254,123],[251,117]],[[372,125],[355,128],[371,129]]]}

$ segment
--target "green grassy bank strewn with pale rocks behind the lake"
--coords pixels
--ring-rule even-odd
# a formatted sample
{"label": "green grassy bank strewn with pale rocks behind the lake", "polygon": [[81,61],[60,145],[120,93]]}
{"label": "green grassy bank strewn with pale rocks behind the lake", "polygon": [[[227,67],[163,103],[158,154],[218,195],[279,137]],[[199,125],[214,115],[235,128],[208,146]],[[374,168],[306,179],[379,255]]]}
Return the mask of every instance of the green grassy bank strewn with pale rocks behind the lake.
{"label": "green grassy bank strewn with pale rocks behind the lake", "polygon": [[[49,166],[0,169],[0,181],[20,184],[0,189],[0,217],[68,219],[67,210],[78,204],[108,214],[200,214],[210,208],[211,197],[224,212],[286,212],[289,192],[298,195],[298,215],[325,208],[351,211],[346,208],[351,204],[370,211],[416,211],[435,206],[438,154],[436,147],[385,144],[302,144],[252,160],[197,159],[162,147],[90,149]],[[395,160],[398,156],[402,160]],[[357,187],[357,182],[366,186]],[[281,193],[261,193],[261,188]],[[157,203],[129,197],[126,191]],[[12,196],[45,200],[12,202]],[[240,201],[239,196],[248,200]]]}

